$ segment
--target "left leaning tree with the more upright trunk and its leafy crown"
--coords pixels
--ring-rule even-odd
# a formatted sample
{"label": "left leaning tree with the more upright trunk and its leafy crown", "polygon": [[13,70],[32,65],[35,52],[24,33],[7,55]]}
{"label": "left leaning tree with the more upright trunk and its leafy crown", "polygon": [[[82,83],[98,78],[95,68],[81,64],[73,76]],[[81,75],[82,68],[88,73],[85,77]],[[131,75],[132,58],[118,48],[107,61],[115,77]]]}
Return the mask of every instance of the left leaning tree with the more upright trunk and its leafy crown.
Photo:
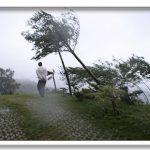
{"label": "left leaning tree with the more upright trunk and its leafy crown", "polygon": [[[68,15],[71,16],[72,12],[69,11]],[[73,29],[67,24],[68,21],[69,20],[65,13],[61,14],[61,18],[56,18],[44,11],[38,11],[28,21],[28,25],[32,30],[22,32],[22,35],[27,41],[34,44],[32,50],[35,50],[36,53],[32,59],[39,60],[51,53],[59,54],[68,82],[69,92],[70,95],[72,95],[68,73],[63,57],[61,55],[61,52],[65,51],[65,47],[59,34],[64,32],[63,34],[65,35],[65,39],[72,39],[70,41],[74,41],[73,44],[75,46],[79,33],[78,35],[74,35],[75,33],[73,32]],[[61,28],[58,28],[58,26],[60,26]],[[74,38],[74,36],[76,37],[76,39]]]}

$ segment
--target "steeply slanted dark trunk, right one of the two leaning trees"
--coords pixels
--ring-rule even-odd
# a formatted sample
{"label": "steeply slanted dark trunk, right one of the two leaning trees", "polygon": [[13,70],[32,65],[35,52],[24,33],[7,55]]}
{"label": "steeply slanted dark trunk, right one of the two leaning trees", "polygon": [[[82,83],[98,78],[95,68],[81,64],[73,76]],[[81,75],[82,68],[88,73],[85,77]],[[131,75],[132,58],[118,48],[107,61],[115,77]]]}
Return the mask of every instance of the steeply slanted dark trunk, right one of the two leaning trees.
{"label": "steeply slanted dark trunk, right one of the two leaning trees", "polygon": [[100,85],[99,80],[94,76],[94,74],[84,65],[84,63],[81,61],[81,59],[75,54],[75,52],[71,49],[68,43],[65,43],[66,46],[69,48],[69,51],[73,56],[78,60],[78,62],[82,65],[82,67],[87,71],[87,73],[93,78],[93,80]]}

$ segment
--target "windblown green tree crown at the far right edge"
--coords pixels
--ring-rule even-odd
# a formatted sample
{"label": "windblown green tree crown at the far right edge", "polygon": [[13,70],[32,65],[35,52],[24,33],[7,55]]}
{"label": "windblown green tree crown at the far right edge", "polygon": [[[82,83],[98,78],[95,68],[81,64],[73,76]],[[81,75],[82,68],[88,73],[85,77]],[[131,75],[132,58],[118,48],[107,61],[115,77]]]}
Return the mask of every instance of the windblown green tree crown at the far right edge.
{"label": "windblown green tree crown at the far right edge", "polygon": [[126,61],[114,59],[114,62],[117,63],[115,67],[120,74],[120,84],[137,84],[143,78],[149,78],[150,64],[144,60],[144,57],[133,55]]}

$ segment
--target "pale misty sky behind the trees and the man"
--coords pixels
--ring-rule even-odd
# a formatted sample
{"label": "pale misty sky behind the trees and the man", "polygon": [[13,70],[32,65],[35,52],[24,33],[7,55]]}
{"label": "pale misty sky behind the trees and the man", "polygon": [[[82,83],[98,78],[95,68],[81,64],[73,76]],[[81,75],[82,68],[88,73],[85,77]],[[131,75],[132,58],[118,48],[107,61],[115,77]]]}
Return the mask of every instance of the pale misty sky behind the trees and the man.
{"label": "pale misty sky behind the trees and the man", "polygon": [[[37,81],[35,70],[38,61],[31,60],[34,51],[32,44],[21,36],[26,31],[27,20],[39,9],[1,8],[0,9],[0,67],[15,71],[15,78]],[[44,10],[42,8],[42,10]],[[62,8],[46,8],[52,14],[58,14]],[[150,9],[124,8],[74,8],[80,21],[80,36],[75,52],[86,65],[92,65],[99,59],[126,59],[133,53],[143,56],[150,62]],[[80,66],[77,60],[67,52],[63,53],[66,66]],[[61,62],[58,55],[50,54],[41,59],[43,65],[56,71]],[[52,84],[49,81],[49,84]]]}

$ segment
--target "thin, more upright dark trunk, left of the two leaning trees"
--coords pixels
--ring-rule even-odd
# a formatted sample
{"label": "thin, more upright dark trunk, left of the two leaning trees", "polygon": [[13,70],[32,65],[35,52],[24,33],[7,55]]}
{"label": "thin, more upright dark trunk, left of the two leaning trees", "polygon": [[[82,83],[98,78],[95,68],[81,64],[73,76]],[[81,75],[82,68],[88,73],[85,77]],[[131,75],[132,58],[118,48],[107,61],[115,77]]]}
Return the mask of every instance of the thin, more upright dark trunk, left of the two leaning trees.
{"label": "thin, more upright dark trunk, left of the two leaning trees", "polygon": [[61,62],[62,62],[64,71],[65,71],[66,79],[67,79],[67,82],[68,82],[69,94],[72,95],[71,84],[70,84],[68,72],[67,72],[67,70],[66,70],[66,66],[65,66],[65,63],[64,63],[64,61],[63,61],[63,58],[62,58],[62,55],[61,55],[61,52],[60,52],[59,49],[58,49],[58,54],[59,54],[59,57],[60,57],[60,59],[61,59]]}

